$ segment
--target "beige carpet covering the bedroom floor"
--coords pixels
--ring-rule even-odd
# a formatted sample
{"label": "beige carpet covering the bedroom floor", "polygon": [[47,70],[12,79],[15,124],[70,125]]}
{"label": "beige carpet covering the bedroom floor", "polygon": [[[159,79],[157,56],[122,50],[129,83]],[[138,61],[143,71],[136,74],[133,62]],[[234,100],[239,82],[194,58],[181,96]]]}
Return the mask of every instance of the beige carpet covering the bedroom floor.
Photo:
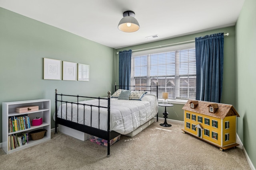
{"label": "beige carpet covering the bedroom floor", "polygon": [[135,137],[121,136],[106,147],[80,141],[62,133],[50,141],[5,154],[0,149],[3,170],[250,170],[239,147],[220,151],[209,143],[182,133],[183,125],[162,127],[154,122]]}

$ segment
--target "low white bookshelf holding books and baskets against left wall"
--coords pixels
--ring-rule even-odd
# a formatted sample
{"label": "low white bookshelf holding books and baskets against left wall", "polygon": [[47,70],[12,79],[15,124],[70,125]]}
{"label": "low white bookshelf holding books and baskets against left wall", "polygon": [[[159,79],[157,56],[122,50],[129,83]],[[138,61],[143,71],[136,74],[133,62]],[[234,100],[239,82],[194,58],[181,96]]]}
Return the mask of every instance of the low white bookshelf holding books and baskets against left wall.
{"label": "low white bookshelf holding books and baskets against left wall", "polygon": [[[26,113],[17,113],[15,112],[16,107],[22,106],[39,106],[38,111],[30,111]],[[2,149],[6,154],[15,152],[17,150],[25,149],[27,147],[31,147],[38,143],[48,141],[51,139],[51,109],[50,109],[50,100],[48,99],[39,99],[39,100],[27,100],[27,101],[19,101],[19,102],[3,102],[2,103]],[[30,118],[30,124],[32,124],[32,119],[36,117],[42,117],[43,123],[39,126],[32,126],[29,129],[24,129],[20,131],[15,131],[9,133],[9,117],[19,116],[28,114]],[[12,134],[20,134],[22,132],[31,132],[36,129],[46,129],[47,132],[44,135],[44,138],[33,141],[32,139],[28,139],[28,144],[22,145],[15,149],[9,150],[9,142],[8,136]]]}

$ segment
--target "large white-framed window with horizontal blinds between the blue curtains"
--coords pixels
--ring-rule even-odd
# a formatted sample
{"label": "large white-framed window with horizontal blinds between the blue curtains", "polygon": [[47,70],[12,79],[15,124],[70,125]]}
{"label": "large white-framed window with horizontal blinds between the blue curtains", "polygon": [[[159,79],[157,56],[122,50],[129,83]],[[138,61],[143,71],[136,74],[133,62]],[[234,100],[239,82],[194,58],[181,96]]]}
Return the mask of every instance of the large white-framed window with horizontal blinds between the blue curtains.
{"label": "large white-framed window with horizontal blinds between the blue curtains", "polygon": [[156,82],[159,98],[168,92],[169,99],[195,99],[195,44],[132,53],[131,86],[155,86]]}

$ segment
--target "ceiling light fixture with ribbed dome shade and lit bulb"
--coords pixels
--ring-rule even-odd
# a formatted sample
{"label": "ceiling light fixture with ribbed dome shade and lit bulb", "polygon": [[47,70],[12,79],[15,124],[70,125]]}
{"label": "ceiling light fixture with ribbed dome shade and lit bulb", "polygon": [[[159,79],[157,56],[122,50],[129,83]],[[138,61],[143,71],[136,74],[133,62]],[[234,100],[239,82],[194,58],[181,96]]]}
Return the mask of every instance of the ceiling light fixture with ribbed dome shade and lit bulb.
{"label": "ceiling light fixture with ribbed dome shade and lit bulb", "polygon": [[138,21],[134,18],[135,13],[133,11],[125,11],[119,24],[118,29],[124,32],[135,32],[140,29]]}

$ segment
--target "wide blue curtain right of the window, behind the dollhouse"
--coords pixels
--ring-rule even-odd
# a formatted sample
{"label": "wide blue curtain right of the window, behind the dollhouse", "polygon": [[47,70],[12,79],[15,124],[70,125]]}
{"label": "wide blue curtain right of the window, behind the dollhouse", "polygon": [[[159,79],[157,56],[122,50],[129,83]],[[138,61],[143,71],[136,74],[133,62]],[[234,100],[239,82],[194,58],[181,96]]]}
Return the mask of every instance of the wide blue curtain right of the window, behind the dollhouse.
{"label": "wide blue curtain right of the window, behind the dollhouse", "polygon": [[195,38],[196,100],[220,103],[223,80],[224,33]]}

